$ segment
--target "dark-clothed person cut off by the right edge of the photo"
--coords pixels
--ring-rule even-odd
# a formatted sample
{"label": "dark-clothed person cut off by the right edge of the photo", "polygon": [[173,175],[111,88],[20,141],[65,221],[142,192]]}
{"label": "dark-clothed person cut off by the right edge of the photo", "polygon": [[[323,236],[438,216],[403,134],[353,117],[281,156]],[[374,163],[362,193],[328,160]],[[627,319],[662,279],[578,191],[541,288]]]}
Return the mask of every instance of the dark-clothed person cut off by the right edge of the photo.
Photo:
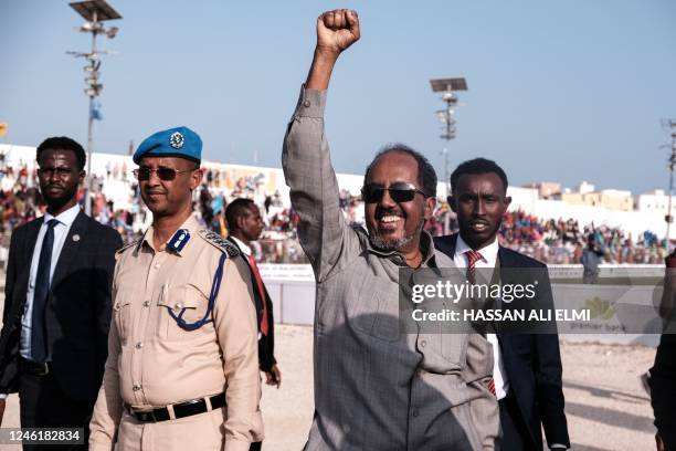
{"label": "dark-clothed person cut off by the right edge of the photo", "polygon": [[676,450],[676,251],[666,258],[659,316],[664,331],[649,371],[657,451]]}

